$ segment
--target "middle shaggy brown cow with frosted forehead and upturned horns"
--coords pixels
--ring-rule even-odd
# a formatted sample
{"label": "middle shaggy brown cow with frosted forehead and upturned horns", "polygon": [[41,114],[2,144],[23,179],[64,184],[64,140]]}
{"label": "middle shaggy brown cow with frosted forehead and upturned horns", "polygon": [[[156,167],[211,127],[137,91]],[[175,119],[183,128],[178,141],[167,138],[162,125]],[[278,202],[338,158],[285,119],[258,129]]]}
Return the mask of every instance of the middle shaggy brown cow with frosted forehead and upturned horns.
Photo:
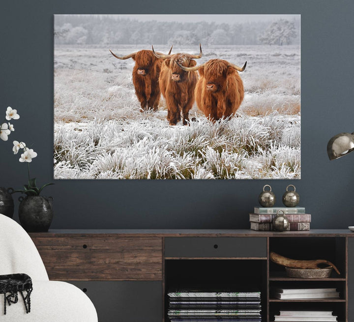
{"label": "middle shaggy brown cow with frosted forehead and upturned horns", "polygon": [[197,84],[198,74],[195,71],[186,72],[178,65],[193,67],[197,63],[193,59],[201,58],[202,46],[199,44],[199,55],[174,54],[159,55],[156,54],[153,47],[152,51],[157,58],[164,59],[161,66],[159,77],[160,90],[166,99],[167,120],[170,125],[176,125],[180,121],[180,114],[183,114],[183,125],[189,122],[189,110],[194,104],[194,88]]}

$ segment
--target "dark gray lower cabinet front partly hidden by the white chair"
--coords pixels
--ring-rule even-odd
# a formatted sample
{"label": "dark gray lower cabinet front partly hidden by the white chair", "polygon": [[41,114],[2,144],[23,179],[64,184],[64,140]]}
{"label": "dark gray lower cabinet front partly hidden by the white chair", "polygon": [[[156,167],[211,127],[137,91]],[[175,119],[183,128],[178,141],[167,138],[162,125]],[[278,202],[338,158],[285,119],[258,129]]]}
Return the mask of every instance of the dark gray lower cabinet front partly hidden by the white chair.
{"label": "dark gray lower cabinet front partly hidden by the white chair", "polygon": [[68,281],[85,291],[98,322],[162,321],[162,282]]}

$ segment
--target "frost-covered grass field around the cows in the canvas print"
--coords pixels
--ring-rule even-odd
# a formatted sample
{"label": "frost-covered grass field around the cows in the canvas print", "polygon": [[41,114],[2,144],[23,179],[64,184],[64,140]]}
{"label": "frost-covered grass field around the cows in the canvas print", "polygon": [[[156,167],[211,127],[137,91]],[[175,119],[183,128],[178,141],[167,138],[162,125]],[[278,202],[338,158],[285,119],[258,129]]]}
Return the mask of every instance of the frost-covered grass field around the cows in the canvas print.
{"label": "frost-covered grass field around the cows in the canvas print", "polygon": [[139,112],[134,61],[109,48],[122,55],[149,46],[55,48],[55,179],[300,178],[299,46],[203,46],[197,64],[247,61],[239,117],[212,124],[194,105],[198,122],[175,127],[162,96],[158,112]]}

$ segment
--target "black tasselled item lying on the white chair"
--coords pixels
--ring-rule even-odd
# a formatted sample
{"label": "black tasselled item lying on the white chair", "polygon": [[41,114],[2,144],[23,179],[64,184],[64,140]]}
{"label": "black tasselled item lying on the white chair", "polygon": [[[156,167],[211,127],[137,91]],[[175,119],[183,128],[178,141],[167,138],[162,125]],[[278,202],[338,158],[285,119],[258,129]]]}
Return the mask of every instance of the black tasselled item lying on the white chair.
{"label": "black tasselled item lying on the white chair", "polygon": [[[32,290],[32,280],[27,274],[0,275],[0,294],[4,294],[4,314],[6,314],[6,302],[9,306],[18,302],[18,292],[24,301],[26,313],[29,313]],[[26,296],[24,291],[27,292]]]}

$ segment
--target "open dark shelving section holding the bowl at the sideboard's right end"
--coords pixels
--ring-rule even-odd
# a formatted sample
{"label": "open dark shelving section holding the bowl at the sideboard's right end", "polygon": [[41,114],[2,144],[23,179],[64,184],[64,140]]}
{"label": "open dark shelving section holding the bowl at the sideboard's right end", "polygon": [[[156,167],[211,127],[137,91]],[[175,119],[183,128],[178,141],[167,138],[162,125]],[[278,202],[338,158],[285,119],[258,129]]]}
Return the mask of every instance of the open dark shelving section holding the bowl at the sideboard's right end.
{"label": "open dark shelving section holding the bowl at the sideboard's right end", "polygon": [[[279,311],[333,311],[337,321],[347,321],[347,245],[345,237],[270,237],[269,254],[299,259],[325,259],[338,268],[329,278],[302,279],[288,277],[285,268],[269,260],[269,322]],[[308,289],[328,288],[339,291],[339,298],[320,299],[277,299],[272,296],[273,288]]]}

